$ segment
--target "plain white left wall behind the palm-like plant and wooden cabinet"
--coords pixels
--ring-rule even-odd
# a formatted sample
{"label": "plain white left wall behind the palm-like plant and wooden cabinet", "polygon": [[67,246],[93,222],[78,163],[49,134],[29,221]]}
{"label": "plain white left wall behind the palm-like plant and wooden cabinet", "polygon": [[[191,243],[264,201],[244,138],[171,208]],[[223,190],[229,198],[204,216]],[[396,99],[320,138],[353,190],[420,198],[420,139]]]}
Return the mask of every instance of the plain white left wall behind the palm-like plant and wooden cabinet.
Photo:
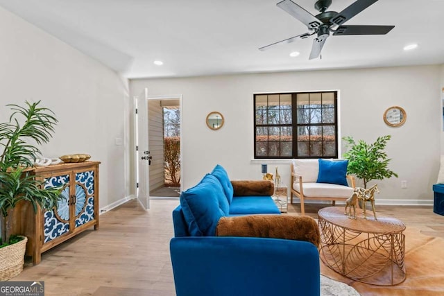
{"label": "plain white left wall behind the palm-like plant and wooden cabinet", "polygon": [[3,8],[0,28],[0,121],[7,104],[42,100],[60,121],[43,155],[92,155],[101,162],[100,207],[124,198],[124,146],[114,139],[126,136],[128,81]]}

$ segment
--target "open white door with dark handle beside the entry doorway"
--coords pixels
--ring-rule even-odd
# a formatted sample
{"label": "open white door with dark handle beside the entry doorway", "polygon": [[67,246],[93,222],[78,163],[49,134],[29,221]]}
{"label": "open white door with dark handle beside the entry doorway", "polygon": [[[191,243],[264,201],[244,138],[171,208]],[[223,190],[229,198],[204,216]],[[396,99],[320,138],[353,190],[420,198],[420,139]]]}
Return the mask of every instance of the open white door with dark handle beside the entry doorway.
{"label": "open white door with dark handle beside the entry doorway", "polygon": [[145,209],[150,207],[148,150],[148,89],[134,98],[136,139],[136,195]]}

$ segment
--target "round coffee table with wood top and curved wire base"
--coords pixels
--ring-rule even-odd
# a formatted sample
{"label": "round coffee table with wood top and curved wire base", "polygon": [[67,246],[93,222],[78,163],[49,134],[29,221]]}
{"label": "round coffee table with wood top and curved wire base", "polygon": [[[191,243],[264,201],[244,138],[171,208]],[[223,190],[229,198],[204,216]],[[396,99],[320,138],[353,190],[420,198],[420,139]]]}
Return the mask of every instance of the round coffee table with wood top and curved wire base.
{"label": "round coffee table with wood top and curved wire base", "polygon": [[405,279],[405,229],[402,221],[367,211],[364,219],[348,218],[344,207],[318,211],[321,230],[319,255],[325,265],[341,275],[379,286],[393,286]]}

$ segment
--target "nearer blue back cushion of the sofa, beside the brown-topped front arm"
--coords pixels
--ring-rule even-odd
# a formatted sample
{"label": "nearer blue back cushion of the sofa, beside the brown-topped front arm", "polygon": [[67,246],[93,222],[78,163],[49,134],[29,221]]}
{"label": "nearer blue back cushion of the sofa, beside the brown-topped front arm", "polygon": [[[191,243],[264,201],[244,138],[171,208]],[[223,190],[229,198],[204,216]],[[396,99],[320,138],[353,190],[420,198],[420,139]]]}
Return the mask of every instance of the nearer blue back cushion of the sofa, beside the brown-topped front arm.
{"label": "nearer blue back cushion of the sofa, beside the brown-topped front arm", "polygon": [[214,236],[219,219],[230,211],[221,182],[210,174],[180,194],[180,206],[191,236]]}

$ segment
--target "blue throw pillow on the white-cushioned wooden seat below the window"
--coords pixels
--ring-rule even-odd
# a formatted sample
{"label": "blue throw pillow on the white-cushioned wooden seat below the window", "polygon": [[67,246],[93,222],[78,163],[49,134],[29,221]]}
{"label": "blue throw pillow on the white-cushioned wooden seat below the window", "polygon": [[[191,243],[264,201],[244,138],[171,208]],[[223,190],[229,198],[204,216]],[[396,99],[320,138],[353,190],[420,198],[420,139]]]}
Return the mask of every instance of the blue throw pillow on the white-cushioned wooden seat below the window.
{"label": "blue throw pillow on the white-cushioned wooden seat below the window", "polygon": [[348,186],[348,160],[319,159],[318,183],[330,183]]}

